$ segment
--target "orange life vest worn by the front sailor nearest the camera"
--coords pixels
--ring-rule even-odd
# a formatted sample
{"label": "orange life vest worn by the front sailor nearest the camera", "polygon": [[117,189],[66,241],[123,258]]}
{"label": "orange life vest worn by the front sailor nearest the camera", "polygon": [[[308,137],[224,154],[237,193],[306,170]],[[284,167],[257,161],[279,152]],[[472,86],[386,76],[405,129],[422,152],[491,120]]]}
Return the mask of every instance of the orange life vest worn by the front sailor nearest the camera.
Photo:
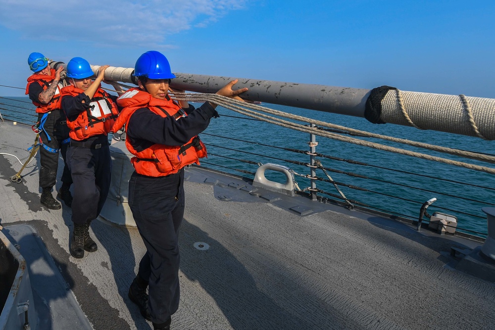
{"label": "orange life vest worn by the front sailor nearest the camera", "polygon": [[[124,107],[113,125],[112,132],[120,130],[129,123],[134,111],[148,108],[151,112],[161,116],[174,117],[180,120],[183,116],[181,107],[171,99],[161,100],[151,97],[151,94],[132,88],[119,96],[117,104]],[[185,113],[184,113],[185,115]],[[186,144],[172,146],[155,143],[143,151],[137,151],[129,139],[125,141],[127,149],[134,155],[131,163],[138,174],[150,177],[162,177],[179,172],[183,167],[196,163],[199,158],[206,157],[206,147],[198,136],[193,137]]]}

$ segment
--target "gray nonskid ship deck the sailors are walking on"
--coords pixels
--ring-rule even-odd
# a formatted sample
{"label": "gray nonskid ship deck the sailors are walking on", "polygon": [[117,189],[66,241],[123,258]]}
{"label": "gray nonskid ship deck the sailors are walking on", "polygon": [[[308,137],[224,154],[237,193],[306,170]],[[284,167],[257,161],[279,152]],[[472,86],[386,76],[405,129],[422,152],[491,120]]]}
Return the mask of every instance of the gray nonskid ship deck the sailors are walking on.
{"label": "gray nonskid ship deck the sailors are walking on", "polygon": [[[0,123],[0,152],[24,161],[34,140],[30,132]],[[37,230],[94,329],[151,329],[127,297],[145,252],[137,230],[95,221],[90,233],[98,251],[74,259],[68,252],[71,209],[41,206],[37,164],[33,161],[16,184],[10,177],[21,165],[14,157],[0,157],[3,231],[17,224]],[[288,210],[291,203],[302,205],[305,201],[297,200],[302,197],[280,196],[277,204],[239,189],[248,183],[237,177],[198,168],[186,177],[181,303],[172,329],[490,329],[495,324],[495,286],[448,267],[456,261],[451,246],[479,243],[417,233],[392,220],[322,203],[302,217]],[[51,313],[56,319],[57,311]]]}

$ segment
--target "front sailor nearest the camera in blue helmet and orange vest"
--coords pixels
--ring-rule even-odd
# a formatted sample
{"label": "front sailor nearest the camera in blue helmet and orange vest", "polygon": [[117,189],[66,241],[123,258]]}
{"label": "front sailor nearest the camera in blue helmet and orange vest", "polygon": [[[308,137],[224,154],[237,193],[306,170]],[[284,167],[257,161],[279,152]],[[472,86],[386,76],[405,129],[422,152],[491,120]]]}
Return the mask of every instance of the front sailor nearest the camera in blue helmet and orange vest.
{"label": "front sailor nearest the camera in blue helmet and orange vest", "polygon": [[[170,98],[170,80],[175,75],[158,51],[147,51],[138,58],[134,76],[139,87],[117,99],[123,109],[112,129],[116,132],[126,125],[126,146],[134,155],[135,169],[129,181],[129,207],[147,248],[128,295],[154,330],[168,330],[179,308],[184,167],[206,156],[198,134],[218,113],[213,103],[195,109]],[[233,91],[236,82],[216,94],[242,100],[238,95],[247,88]]]}

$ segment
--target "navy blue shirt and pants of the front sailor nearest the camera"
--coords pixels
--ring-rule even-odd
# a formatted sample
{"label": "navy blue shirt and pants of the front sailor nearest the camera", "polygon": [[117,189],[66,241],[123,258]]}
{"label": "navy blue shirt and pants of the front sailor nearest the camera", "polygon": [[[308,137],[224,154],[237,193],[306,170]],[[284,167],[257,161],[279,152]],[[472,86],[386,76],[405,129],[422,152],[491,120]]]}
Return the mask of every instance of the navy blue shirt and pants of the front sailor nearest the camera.
{"label": "navy blue shirt and pants of the front sailor nearest the camera", "polygon": [[[209,103],[184,109],[187,117],[161,117],[148,108],[136,110],[126,139],[137,151],[152,144],[183,145],[208,127],[218,113]],[[184,216],[184,168],[165,177],[134,172],[129,181],[129,207],[147,252],[138,276],[148,282],[148,307],[154,324],[163,324],[179,308],[179,241]]]}

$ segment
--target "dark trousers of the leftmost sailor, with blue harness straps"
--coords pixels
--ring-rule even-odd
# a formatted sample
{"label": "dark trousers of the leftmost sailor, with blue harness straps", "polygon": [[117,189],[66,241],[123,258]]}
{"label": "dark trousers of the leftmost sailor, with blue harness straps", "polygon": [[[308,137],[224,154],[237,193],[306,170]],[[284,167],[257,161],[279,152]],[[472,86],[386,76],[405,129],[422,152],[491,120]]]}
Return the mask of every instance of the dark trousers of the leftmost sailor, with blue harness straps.
{"label": "dark trousers of the leftmost sailor, with blue harness straps", "polygon": [[[44,113],[38,114],[38,121],[41,120],[43,115]],[[64,112],[59,109],[51,111],[43,127],[45,131],[40,133],[41,141],[50,148],[60,149],[60,151],[50,152],[43,146],[40,146],[40,187],[51,188],[55,186],[58,170],[58,152],[62,154],[64,162],[62,182],[70,186],[72,184],[72,178],[66,162],[66,152],[69,144],[62,143],[62,141],[69,137],[69,128],[66,124]],[[50,141],[48,141],[47,133]]]}

